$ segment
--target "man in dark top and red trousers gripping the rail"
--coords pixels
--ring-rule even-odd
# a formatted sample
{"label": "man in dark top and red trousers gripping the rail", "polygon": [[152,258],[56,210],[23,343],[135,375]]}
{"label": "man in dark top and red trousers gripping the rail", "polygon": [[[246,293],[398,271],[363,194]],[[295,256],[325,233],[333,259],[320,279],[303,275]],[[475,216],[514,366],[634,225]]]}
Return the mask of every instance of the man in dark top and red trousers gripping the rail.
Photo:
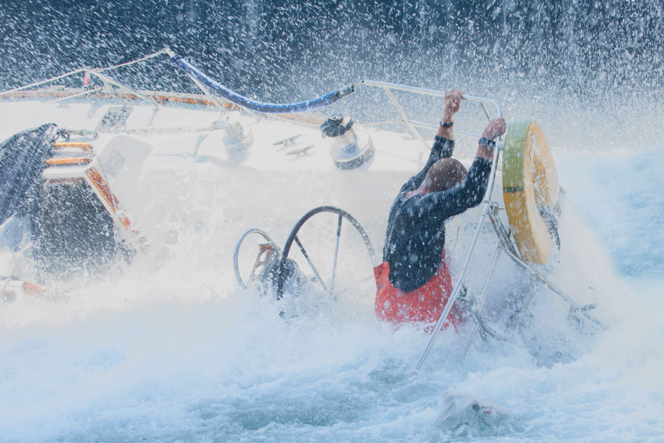
{"label": "man in dark top and red trousers gripping the rail", "polygon": [[[424,168],[401,187],[389,211],[382,264],[376,276],[376,315],[394,324],[434,323],[452,291],[445,257],[445,220],[477,206],[486,192],[495,138],[505,133],[503,118],[491,120],[480,138],[477,156],[466,171],[456,159],[452,118],[462,94],[445,93],[438,135]],[[452,309],[448,323],[461,314]],[[446,325],[448,323],[445,323]]]}

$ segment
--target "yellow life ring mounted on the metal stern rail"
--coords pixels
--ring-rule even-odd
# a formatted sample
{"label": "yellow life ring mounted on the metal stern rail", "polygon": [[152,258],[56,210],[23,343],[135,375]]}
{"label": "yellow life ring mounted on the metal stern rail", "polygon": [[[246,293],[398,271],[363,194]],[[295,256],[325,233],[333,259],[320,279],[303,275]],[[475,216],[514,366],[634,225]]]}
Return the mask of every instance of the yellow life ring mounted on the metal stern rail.
{"label": "yellow life ring mounted on the metal stern rail", "polygon": [[557,204],[560,184],[542,127],[529,120],[510,125],[503,152],[503,199],[524,260],[544,264],[553,240],[539,208]]}

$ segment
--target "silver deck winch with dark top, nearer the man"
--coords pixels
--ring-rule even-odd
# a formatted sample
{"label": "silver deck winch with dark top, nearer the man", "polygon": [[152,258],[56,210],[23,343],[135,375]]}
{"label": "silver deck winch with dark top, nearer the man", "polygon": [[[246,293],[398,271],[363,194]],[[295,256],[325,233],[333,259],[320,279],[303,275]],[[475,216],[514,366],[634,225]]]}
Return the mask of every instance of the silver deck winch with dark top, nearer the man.
{"label": "silver deck winch with dark top, nearer the man", "polygon": [[320,125],[323,137],[332,139],[330,156],[339,169],[356,169],[374,159],[376,150],[365,131],[353,129],[350,116],[334,114]]}

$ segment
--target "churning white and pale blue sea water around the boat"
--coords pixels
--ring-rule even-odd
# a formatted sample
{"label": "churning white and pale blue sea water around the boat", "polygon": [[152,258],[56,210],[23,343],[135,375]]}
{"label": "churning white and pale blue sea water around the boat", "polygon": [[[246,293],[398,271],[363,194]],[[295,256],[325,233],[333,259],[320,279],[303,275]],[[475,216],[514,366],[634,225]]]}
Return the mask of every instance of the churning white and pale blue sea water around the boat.
{"label": "churning white and pale blue sea water around the boat", "polygon": [[[82,283],[62,305],[2,307],[0,441],[656,440],[664,162],[658,149],[558,157],[570,204],[615,265],[602,272],[620,284],[607,300],[618,321],[578,358],[542,365],[494,343],[461,359],[463,341],[444,331],[418,372],[428,336],[380,323],[371,294],[364,315],[286,322],[238,289],[232,251],[201,252],[192,236],[151,273]],[[450,392],[506,413],[450,410]]]}

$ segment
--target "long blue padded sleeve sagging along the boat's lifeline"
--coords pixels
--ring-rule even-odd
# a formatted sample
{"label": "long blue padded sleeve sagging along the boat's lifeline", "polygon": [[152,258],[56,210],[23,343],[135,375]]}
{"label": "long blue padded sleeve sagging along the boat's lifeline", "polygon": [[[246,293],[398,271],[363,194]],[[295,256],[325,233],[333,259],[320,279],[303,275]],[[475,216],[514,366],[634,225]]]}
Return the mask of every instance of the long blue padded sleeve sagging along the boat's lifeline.
{"label": "long blue padded sleeve sagging along the boat's lifeline", "polygon": [[307,100],[306,102],[259,102],[257,100],[252,100],[251,98],[241,96],[239,93],[224,87],[219,82],[213,78],[210,78],[209,75],[203,73],[200,69],[196,68],[196,66],[190,62],[187,62],[187,60],[183,59],[182,57],[173,57],[172,61],[177,64],[180,69],[191,75],[196,80],[199,80],[199,82],[205,84],[205,86],[212,89],[212,91],[219,93],[219,95],[223,98],[230,100],[236,105],[240,105],[242,107],[251,109],[252,111],[262,112],[265,114],[290,114],[291,112],[308,111],[309,109],[331,105],[333,102],[355,91],[355,85],[351,84],[349,87],[339,89],[338,91],[332,91],[331,93],[325,94],[324,96],[314,98],[313,100]]}

